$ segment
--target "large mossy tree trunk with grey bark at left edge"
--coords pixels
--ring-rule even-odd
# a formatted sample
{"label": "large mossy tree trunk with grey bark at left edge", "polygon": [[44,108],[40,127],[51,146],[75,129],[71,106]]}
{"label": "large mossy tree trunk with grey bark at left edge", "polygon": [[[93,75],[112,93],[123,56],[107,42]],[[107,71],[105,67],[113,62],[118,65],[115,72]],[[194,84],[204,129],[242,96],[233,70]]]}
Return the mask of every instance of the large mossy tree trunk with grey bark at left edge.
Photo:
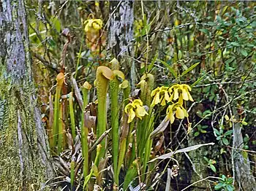
{"label": "large mossy tree trunk with grey bark at left edge", "polygon": [[0,26],[0,190],[39,190],[53,168],[35,98],[23,0],[0,1]]}

